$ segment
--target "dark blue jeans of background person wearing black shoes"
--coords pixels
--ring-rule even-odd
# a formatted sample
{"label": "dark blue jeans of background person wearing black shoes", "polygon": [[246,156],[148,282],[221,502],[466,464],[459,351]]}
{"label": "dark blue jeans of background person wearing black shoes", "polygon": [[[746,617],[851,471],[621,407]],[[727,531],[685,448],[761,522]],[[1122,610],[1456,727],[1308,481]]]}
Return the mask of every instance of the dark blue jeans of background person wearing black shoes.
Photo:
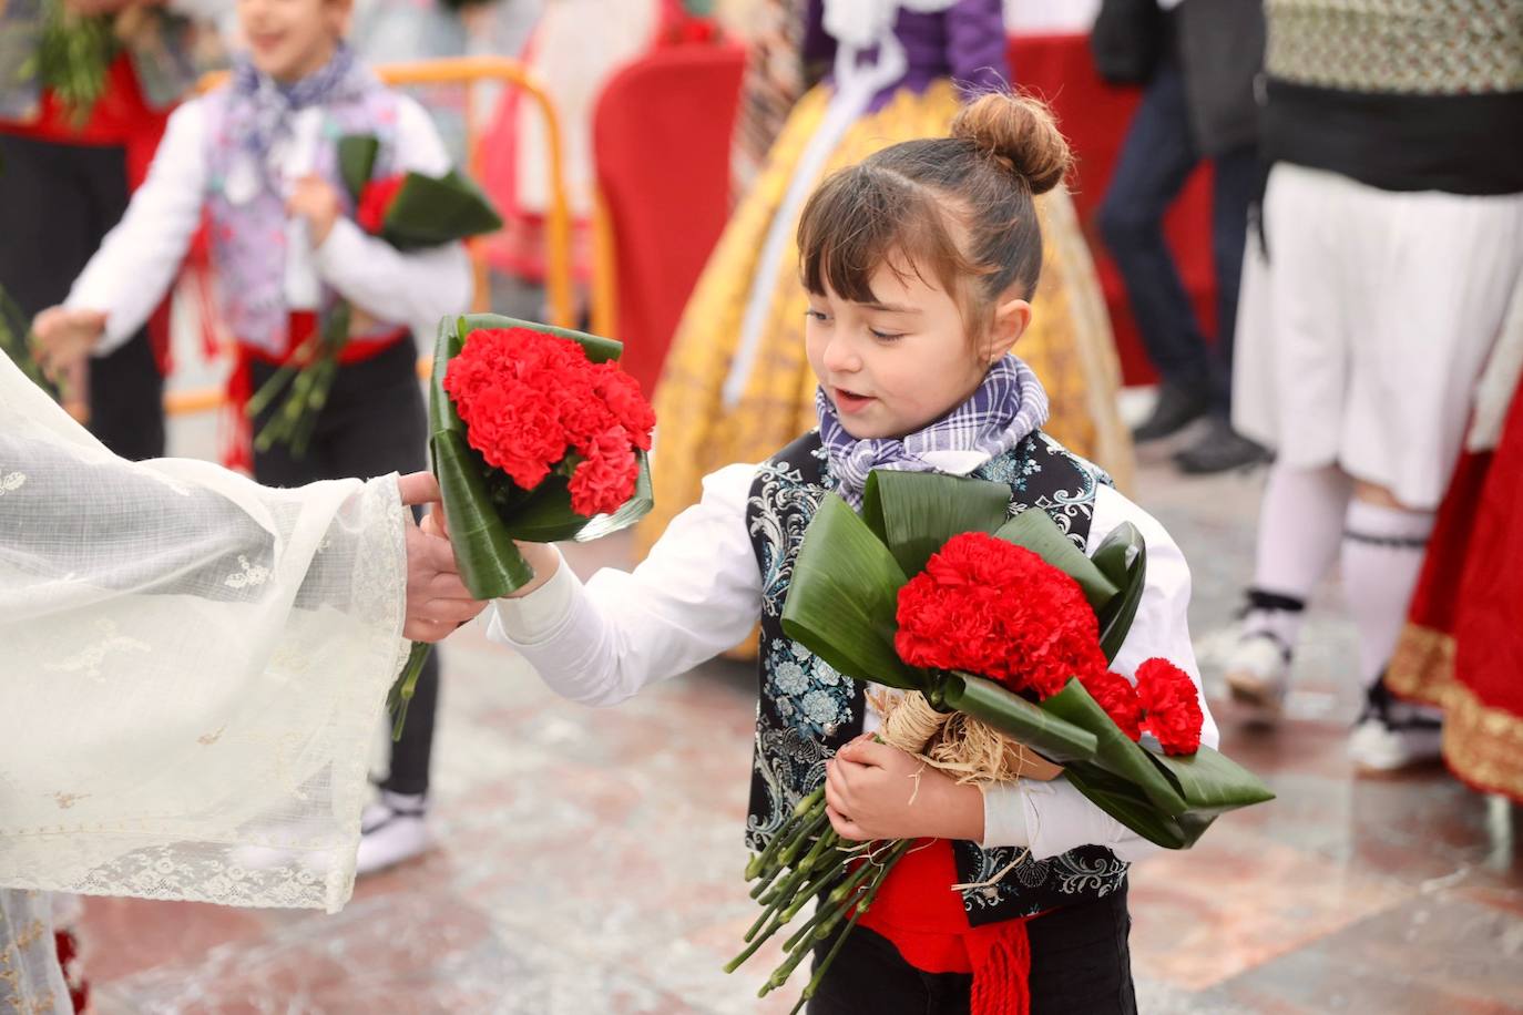
{"label": "dark blue jeans of background person wearing black shoes", "polygon": [[1215,409],[1226,414],[1243,243],[1263,169],[1253,146],[1235,148],[1211,160],[1215,169],[1211,254],[1217,275],[1217,344],[1212,348],[1164,240],[1164,215],[1202,158],[1185,103],[1185,76],[1177,58],[1170,55],[1159,61],[1132,117],[1100,207],[1100,231],[1121,271],[1148,359],[1165,380],[1208,391]]}

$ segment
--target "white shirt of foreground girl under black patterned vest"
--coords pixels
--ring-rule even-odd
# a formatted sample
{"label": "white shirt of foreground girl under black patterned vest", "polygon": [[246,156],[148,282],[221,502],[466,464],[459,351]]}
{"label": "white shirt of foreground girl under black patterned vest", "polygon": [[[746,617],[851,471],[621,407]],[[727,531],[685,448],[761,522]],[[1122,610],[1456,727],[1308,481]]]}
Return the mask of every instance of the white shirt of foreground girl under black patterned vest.
{"label": "white shirt of foreground girl under black patterned vest", "polygon": [[[982,460],[956,455],[956,472]],[[672,520],[632,572],[603,569],[583,584],[562,562],[535,592],[496,601],[489,638],[516,648],[557,694],[595,706],[617,705],[734,647],[762,615],[762,575],[746,533],[754,473],[755,466],[728,466],[705,476],[702,499]],[[1217,724],[1200,692],[1185,616],[1189,568],[1164,527],[1110,487],[1095,495],[1087,552],[1122,522],[1147,540],[1147,584],[1110,670],[1133,679],[1154,656],[1185,670],[1205,714],[1200,743],[1215,747]],[[871,709],[868,723],[876,723]],[[1039,860],[1084,845],[1107,846],[1129,861],[1156,849],[1062,776],[985,788],[982,845],[1030,846]]]}

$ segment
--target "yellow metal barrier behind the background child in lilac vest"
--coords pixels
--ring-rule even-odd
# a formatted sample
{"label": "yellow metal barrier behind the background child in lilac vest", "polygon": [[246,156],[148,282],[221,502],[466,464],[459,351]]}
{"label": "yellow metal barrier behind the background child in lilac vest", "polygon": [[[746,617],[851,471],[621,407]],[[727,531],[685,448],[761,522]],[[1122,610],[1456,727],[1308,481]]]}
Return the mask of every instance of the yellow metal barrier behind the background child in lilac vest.
{"label": "yellow metal barrier behind the background child in lilac vest", "polygon": [[[556,116],[554,102],[538,82],[533,72],[516,59],[507,56],[446,56],[442,59],[420,59],[402,64],[379,64],[376,75],[393,87],[417,85],[463,85],[466,88],[465,123],[466,123],[466,164],[475,180],[481,180],[481,129],[477,123],[472,88],[481,82],[501,82],[519,88],[539,108],[545,122],[545,149],[550,170],[550,207],[545,213],[545,289],[550,303],[551,324],[560,327],[576,326],[574,295],[571,289],[571,212],[567,199],[565,166],[560,157],[560,119]],[[209,91],[227,81],[227,73],[207,75],[201,79],[200,90]],[[487,265],[480,237],[468,242],[471,263],[475,271],[474,310],[490,309],[490,291],[487,285]],[[426,377],[429,358],[423,356],[417,362],[417,373]],[[169,415],[186,415],[206,412],[224,403],[225,397],[219,390],[172,391],[164,396],[164,412]]]}

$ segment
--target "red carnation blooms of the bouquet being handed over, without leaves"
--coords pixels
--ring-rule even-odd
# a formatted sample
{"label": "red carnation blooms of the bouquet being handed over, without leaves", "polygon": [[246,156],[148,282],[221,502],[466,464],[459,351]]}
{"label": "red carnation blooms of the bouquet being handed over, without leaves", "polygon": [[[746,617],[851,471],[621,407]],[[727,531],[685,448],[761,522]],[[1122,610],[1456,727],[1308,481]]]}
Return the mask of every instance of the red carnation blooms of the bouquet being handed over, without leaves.
{"label": "red carnation blooms of the bouquet being handed over, without leaves", "polygon": [[570,478],[571,510],[617,511],[635,492],[637,450],[656,417],[640,383],[594,364],[568,339],[525,327],[472,332],[445,373],[445,391],[486,463],[521,488]]}

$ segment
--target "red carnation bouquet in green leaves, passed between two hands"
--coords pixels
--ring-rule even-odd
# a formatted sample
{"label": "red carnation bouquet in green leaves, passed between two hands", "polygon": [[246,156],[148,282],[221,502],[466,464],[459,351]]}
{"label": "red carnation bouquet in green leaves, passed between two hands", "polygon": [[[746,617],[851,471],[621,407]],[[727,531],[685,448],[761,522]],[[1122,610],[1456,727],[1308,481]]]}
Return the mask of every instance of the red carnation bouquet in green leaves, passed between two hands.
{"label": "red carnation bouquet in green leaves, passed between two hands", "polygon": [[[434,348],[428,450],[465,586],[478,600],[535,574],[513,540],[591,540],[652,507],[656,415],[618,367],[623,345],[495,313],[445,318]],[[396,735],[428,647],[391,688]]]}

